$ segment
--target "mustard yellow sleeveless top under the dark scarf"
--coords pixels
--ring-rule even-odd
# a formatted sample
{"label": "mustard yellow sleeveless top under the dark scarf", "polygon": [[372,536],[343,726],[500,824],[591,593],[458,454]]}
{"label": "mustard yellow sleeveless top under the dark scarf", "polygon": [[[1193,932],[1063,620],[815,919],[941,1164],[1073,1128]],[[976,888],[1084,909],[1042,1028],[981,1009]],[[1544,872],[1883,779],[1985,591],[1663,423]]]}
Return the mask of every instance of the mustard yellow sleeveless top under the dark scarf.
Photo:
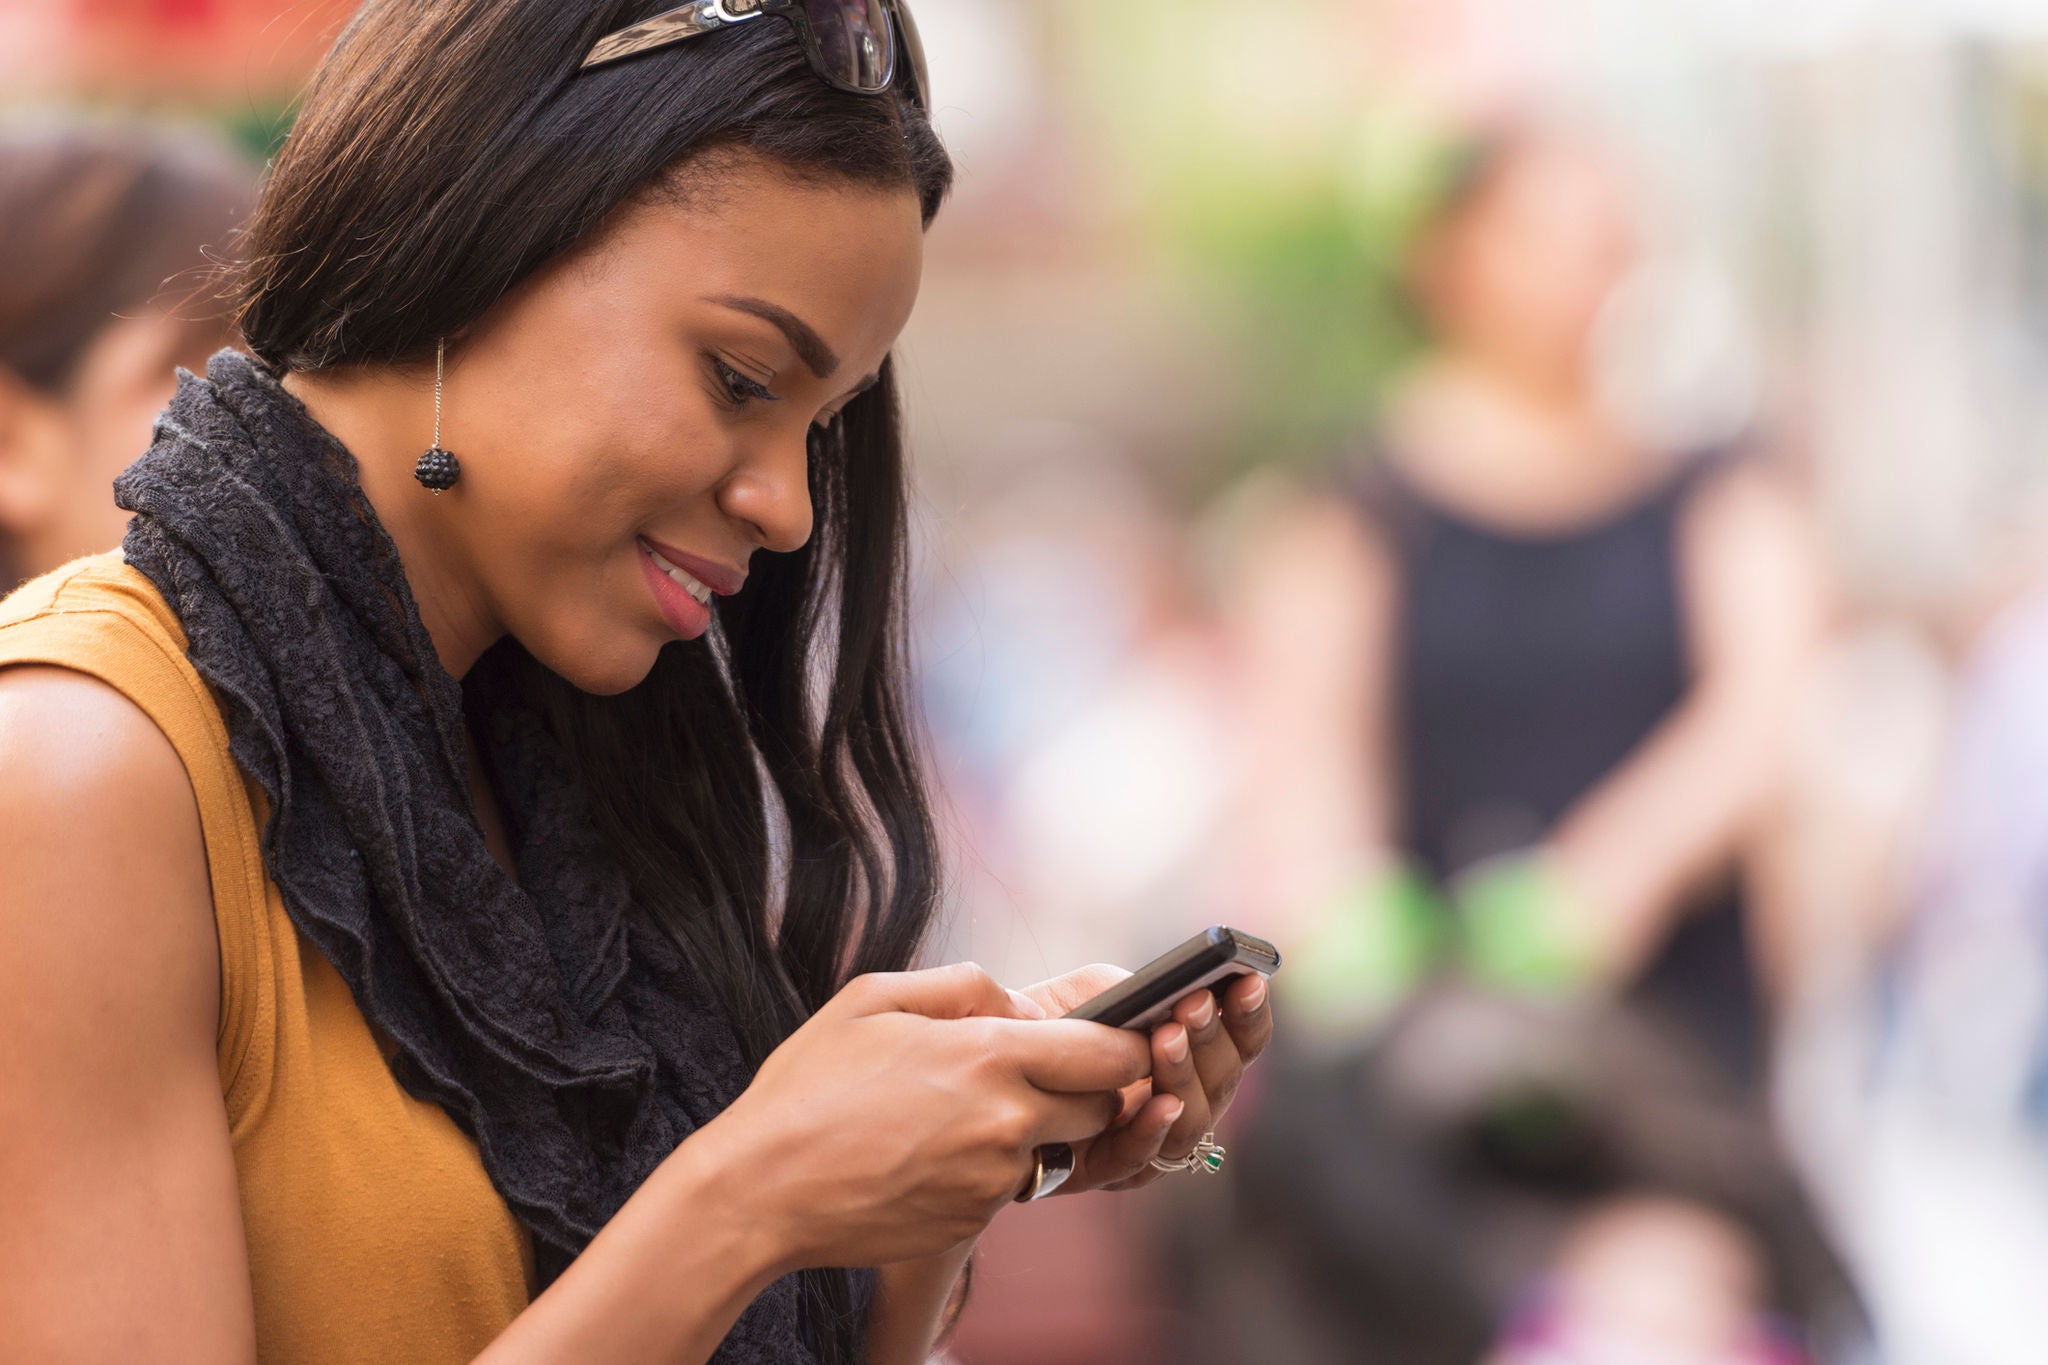
{"label": "mustard yellow sleeveless top under the dark scarf", "polygon": [[170,606],[121,555],[0,602],[0,667],[113,686],[170,739],[193,792],[221,941],[221,1099],[266,1365],[469,1361],[532,1297],[532,1242],[475,1144],[385,1064],[391,1046],[264,876],[264,796],[184,657]]}

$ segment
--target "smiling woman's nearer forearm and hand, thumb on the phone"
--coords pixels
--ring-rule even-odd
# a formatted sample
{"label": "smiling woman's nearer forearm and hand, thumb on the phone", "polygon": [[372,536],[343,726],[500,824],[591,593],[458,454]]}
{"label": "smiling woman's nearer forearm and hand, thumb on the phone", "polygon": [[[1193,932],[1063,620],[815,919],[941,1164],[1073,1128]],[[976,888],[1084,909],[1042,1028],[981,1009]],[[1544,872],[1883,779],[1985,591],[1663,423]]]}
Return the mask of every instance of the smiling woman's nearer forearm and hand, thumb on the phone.
{"label": "smiling woman's nearer forearm and hand, thumb on the phone", "polygon": [[973,964],[852,982],[481,1359],[696,1363],[780,1275],[881,1265],[870,1357],[922,1365],[1030,1150],[1100,1134],[1149,1070],[1137,1036],[1020,1013]]}

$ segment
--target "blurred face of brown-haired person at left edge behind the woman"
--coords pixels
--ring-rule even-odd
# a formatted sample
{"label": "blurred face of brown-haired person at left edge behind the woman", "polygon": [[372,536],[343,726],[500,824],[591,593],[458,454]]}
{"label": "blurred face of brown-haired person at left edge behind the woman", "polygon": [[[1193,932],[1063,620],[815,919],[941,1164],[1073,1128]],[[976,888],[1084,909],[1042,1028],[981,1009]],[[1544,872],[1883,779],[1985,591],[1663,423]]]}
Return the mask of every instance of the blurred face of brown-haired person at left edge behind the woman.
{"label": "blurred face of brown-haired person at left edge behind the woman", "polygon": [[115,475],[150,446],[176,368],[203,370],[225,342],[219,327],[141,313],[100,329],[61,393],[0,370],[0,567],[35,577],[121,544]]}

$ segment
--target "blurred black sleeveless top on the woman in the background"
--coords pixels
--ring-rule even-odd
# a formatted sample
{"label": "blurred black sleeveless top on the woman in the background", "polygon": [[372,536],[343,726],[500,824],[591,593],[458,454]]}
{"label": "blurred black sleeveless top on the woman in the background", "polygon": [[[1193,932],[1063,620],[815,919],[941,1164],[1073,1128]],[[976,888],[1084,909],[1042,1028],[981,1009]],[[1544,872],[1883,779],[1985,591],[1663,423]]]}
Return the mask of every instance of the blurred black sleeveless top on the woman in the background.
{"label": "blurred black sleeveless top on the woman in the background", "polygon": [[[1692,686],[1679,522],[1722,467],[1690,463],[1563,534],[1479,526],[1380,460],[1354,485],[1401,579],[1397,782],[1405,847],[1436,878],[1540,841]],[[1759,1066],[1759,993],[1739,890],[1704,894],[1638,980],[1739,1083]]]}

